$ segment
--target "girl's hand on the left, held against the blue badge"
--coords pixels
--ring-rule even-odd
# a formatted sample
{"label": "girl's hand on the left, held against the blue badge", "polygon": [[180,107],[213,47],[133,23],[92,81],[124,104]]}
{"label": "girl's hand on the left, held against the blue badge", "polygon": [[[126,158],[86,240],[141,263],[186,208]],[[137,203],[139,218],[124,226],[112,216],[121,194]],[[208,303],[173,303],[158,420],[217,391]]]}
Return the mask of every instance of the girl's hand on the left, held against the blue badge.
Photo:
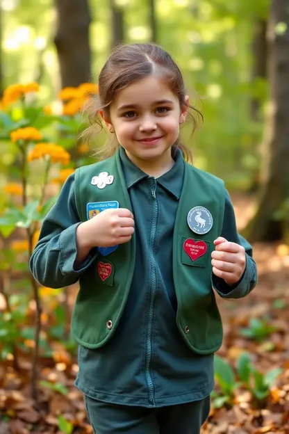
{"label": "girl's hand on the left, held against the blue badge", "polygon": [[77,245],[90,249],[127,243],[131,240],[134,225],[129,209],[106,209],[77,227]]}

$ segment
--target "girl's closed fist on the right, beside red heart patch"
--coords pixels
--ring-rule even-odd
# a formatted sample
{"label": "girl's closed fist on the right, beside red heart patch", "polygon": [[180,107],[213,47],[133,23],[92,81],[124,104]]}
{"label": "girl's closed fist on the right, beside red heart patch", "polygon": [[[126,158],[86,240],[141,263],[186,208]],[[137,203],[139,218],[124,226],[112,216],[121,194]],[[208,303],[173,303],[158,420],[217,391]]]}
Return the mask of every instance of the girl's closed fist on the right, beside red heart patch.
{"label": "girl's closed fist on the right, beside red heart patch", "polygon": [[246,268],[245,248],[237,243],[226,241],[219,236],[215,241],[215,250],[212,252],[213,273],[223,279],[226,284],[233,285],[239,282]]}

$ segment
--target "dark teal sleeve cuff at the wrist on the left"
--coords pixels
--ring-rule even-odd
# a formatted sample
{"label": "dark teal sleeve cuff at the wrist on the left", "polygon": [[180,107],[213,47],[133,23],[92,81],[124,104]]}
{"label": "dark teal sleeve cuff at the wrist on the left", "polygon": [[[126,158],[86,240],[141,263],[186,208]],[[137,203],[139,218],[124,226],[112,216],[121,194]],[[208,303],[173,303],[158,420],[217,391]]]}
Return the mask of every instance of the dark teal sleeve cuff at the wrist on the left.
{"label": "dark teal sleeve cuff at the wrist on the left", "polygon": [[76,247],[76,229],[81,223],[75,223],[74,225],[67,227],[66,230],[61,232],[59,238],[60,252],[62,256],[61,271],[63,275],[66,274],[82,274],[97,257],[97,248],[90,250],[90,253],[79,266],[76,268],[74,263],[77,256]]}

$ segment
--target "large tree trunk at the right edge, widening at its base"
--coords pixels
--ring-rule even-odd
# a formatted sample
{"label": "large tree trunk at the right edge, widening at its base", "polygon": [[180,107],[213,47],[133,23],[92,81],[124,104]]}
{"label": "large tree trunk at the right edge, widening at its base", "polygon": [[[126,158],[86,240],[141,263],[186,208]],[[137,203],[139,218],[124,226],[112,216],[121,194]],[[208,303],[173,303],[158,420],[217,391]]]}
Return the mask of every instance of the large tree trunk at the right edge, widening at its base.
{"label": "large tree trunk at the right edge, widening at its base", "polygon": [[280,220],[275,220],[274,213],[289,196],[288,0],[272,0],[267,43],[270,110],[267,117],[265,167],[258,210],[245,230],[245,236],[251,242],[272,241],[284,236],[285,225]]}

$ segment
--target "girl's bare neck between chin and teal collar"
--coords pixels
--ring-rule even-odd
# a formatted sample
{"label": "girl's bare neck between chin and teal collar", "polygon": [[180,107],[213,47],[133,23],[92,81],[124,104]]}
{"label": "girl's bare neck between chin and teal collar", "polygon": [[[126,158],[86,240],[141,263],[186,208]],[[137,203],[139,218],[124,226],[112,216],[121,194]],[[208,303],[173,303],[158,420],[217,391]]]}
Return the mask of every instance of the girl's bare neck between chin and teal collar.
{"label": "girl's bare neck between chin and teal collar", "polygon": [[138,157],[131,155],[131,153],[127,151],[126,155],[135,164],[135,166],[138,166],[138,168],[142,170],[142,172],[145,172],[147,173],[147,175],[154,178],[158,178],[164,175],[164,173],[168,172],[175,163],[174,159],[172,158],[171,152],[167,152],[160,159],[157,160],[138,159]]}

